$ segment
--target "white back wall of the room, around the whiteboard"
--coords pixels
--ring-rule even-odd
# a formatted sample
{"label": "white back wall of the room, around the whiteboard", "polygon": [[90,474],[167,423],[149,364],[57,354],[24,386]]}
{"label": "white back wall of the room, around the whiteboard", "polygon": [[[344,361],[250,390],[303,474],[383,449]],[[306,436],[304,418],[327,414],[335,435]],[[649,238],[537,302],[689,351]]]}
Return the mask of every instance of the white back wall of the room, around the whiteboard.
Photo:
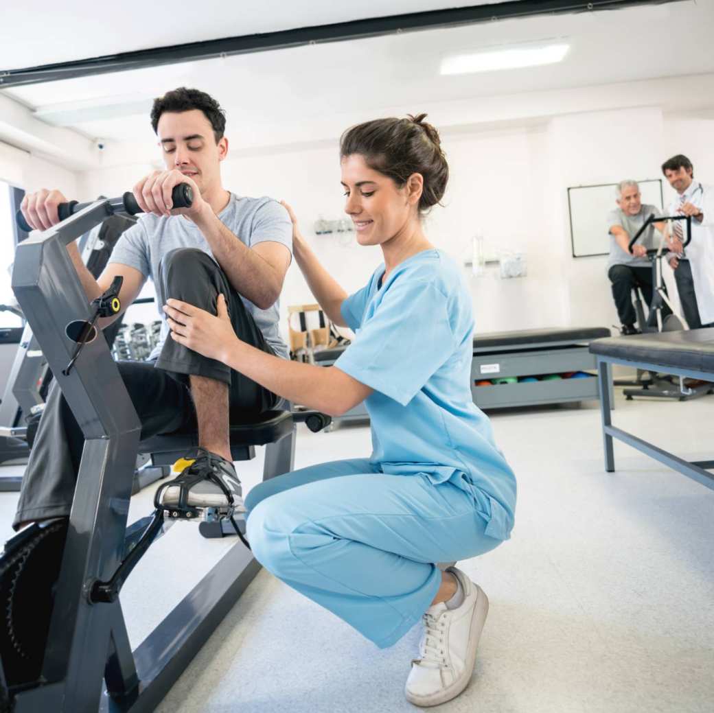
{"label": "white back wall of the room, around the whiteboard", "polygon": [[[491,248],[528,256],[526,278],[501,280],[496,268],[476,278],[464,268],[477,332],[617,324],[607,258],[572,256],[567,188],[660,178],[661,163],[674,153],[687,153],[698,177],[714,181],[712,128],[714,121],[665,117],[660,108],[645,107],[569,113],[488,131],[478,126],[444,131],[451,180],[444,206],[434,208],[426,220],[428,236],[459,261],[470,256],[476,233]],[[151,170],[144,163],[80,174],[78,195],[119,194]],[[313,233],[316,218],[343,216],[337,141],[280,153],[234,152],[222,170],[231,191],[291,203],[303,233],[346,290],[363,285],[381,261],[378,249],[358,246],[353,233]],[[666,183],[665,188],[666,201],[671,189]],[[672,275],[666,278],[674,294]],[[283,333],[286,305],[308,301],[313,298],[293,266],[281,300]],[[129,315],[129,320],[154,318],[151,308],[136,308]]]}

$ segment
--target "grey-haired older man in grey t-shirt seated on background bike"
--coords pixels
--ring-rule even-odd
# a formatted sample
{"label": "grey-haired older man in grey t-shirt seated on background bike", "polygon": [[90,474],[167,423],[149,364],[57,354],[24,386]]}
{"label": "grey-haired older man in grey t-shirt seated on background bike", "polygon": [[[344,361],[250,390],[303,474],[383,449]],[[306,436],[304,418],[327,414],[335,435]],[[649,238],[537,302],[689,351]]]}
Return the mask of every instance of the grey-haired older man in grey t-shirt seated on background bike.
{"label": "grey-haired older man in grey t-shirt seated on background bike", "polygon": [[[620,181],[615,188],[615,203],[618,207],[608,213],[608,235],[610,236],[610,256],[608,258],[608,278],[612,283],[613,298],[620,318],[620,333],[638,334],[635,326],[637,315],[632,303],[633,288],[642,290],[648,305],[652,303],[653,281],[652,266],[647,258],[647,251],[655,248],[654,231],[663,231],[664,223],[650,225],[643,236],[633,246],[630,253],[629,243],[651,216],[657,217],[662,212],[656,206],[642,203],[640,187],[637,181]],[[663,315],[669,313],[666,307]],[[648,319],[648,323],[650,323]]]}

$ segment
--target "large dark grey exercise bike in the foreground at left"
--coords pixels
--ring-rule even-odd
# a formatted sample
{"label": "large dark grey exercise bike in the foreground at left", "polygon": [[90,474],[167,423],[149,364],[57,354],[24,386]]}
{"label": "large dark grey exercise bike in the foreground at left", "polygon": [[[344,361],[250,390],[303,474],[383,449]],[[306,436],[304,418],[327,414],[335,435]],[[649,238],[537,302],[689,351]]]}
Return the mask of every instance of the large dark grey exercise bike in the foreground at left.
{"label": "large dark grey exercise bike in the foreground at left", "polygon": [[[190,188],[177,186],[173,198],[176,207],[190,206]],[[149,713],[260,566],[236,537],[236,544],[221,550],[221,560],[132,651],[121,587],[151,542],[178,520],[188,520],[185,512],[157,508],[127,527],[136,453],[142,447],[153,452],[164,439],[167,451],[184,447],[190,435],[140,443],[136,410],[95,326],[99,318],[121,310],[121,277],[88,304],[66,250],[108,216],[139,213],[134,196],[60,208],[61,223],[18,247],[12,285],[81,424],[85,444],[69,522],[27,527],[0,558],[0,713]],[[319,430],[329,423],[321,416],[313,412],[300,418],[311,417],[313,423],[317,418],[313,430]],[[258,423],[231,424],[234,460],[247,460],[256,445],[266,445],[263,478],[292,470],[297,420],[289,411],[274,411]],[[226,518],[207,515],[212,518],[206,522],[208,535],[226,534]],[[245,529],[242,524],[239,530]]]}

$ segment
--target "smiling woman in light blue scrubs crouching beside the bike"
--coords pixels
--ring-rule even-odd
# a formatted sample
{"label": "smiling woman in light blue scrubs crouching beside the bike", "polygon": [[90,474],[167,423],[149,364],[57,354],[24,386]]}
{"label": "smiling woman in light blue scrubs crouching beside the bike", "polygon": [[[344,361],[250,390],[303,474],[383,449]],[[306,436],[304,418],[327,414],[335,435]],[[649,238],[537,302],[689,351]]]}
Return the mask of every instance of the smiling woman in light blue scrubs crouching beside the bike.
{"label": "smiling woman in light blue scrubs crouching beside the bike", "polygon": [[513,471],[471,398],[473,315],[461,268],[421,218],[446,190],[448,165],[424,115],[354,126],[341,138],[346,213],[384,262],[348,295],[293,218],[294,256],[328,317],[356,333],[328,368],[286,362],[241,342],[218,315],[169,300],[171,336],[293,403],[341,415],[365,401],[371,457],[323,463],[257,485],[246,498],[256,559],[378,647],[422,622],[407,699],[456,697],[476,662],[488,599],[456,567],[509,537]]}

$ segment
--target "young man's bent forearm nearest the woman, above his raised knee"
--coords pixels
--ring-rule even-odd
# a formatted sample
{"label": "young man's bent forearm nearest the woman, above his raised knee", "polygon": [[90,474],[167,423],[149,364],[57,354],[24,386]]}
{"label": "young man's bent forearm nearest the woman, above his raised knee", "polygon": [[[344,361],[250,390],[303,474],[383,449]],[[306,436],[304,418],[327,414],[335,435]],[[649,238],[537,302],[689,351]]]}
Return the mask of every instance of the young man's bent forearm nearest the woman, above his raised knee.
{"label": "young man's bent forearm nearest the woman, above his raised knee", "polygon": [[270,307],[280,296],[283,283],[276,270],[233,235],[213,211],[206,211],[194,222],[233,289],[261,309]]}

